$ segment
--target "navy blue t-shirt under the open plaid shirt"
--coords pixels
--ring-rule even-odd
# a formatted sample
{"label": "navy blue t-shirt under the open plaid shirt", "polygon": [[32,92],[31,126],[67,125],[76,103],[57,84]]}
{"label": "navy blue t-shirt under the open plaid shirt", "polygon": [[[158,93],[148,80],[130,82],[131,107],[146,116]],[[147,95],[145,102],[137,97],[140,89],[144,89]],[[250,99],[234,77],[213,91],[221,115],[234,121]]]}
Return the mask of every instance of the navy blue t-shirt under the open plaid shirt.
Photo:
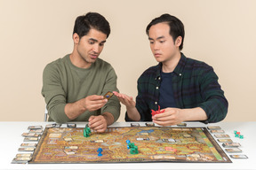
{"label": "navy blue t-shirt under the open plaid shirt", "polygon": [[172,91],[172,73],[163,73],[161,71],[161,85],[158,104],[161,109],[167,107],[176,107]]}

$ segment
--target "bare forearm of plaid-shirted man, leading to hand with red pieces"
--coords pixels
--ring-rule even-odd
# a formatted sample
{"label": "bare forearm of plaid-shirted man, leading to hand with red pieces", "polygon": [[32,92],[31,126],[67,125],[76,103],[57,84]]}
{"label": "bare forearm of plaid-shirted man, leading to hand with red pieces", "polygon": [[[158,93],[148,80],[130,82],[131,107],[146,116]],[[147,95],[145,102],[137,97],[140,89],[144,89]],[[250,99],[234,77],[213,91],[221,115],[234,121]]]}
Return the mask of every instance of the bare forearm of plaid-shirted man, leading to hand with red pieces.
{"label": "bare forearm of plaid-shirted man, leading to hand with red pieces", "polygon": [[183,121],[207,120],[206,112],[201,107],[181,110]]}

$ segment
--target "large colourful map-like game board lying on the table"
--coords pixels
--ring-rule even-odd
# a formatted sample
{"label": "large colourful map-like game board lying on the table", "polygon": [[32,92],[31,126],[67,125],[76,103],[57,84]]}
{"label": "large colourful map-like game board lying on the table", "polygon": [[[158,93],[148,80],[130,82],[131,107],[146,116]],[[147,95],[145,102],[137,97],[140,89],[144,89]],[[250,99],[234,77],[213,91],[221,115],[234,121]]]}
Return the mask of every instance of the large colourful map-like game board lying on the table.
{"label": "large colourful map-like game board lying on the table", "polygon": [[[45,128],[29,163],[231,162],[206,128],[108,128],[89,137],[83,131]],[[127,140],[139,154],[130,153]]]}

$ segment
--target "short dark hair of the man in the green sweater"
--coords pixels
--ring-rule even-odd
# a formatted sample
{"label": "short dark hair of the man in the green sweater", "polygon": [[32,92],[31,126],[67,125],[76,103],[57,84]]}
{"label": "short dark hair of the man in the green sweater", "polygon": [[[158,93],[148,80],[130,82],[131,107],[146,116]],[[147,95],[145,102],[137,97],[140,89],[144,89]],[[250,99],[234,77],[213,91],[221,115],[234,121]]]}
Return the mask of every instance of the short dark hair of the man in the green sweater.
{"label": "short dark hair of the man in the green sweater", "polygon": [[100,13],[88,12],[85,15],[76,18],[73,35],[76,33],[81,38],[82,36],[87,35],[92,28],[104,33],[107,35],[107,38],[110,34],[108,20],[100,15]]}

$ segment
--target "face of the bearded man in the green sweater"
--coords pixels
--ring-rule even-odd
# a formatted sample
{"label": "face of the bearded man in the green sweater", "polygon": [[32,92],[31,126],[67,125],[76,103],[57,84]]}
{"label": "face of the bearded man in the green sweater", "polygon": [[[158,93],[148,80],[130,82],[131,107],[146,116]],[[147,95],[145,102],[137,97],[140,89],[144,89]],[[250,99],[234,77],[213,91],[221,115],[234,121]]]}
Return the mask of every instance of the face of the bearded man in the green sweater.
{"label": "face of the bearded man in the green sweater", "polygon": [[106,39],[107,35],[93,28],[87,35],[79,39],[76,44],[76,50],[79,57],[84,60],[86,67],[91,66],[100,56]]}

